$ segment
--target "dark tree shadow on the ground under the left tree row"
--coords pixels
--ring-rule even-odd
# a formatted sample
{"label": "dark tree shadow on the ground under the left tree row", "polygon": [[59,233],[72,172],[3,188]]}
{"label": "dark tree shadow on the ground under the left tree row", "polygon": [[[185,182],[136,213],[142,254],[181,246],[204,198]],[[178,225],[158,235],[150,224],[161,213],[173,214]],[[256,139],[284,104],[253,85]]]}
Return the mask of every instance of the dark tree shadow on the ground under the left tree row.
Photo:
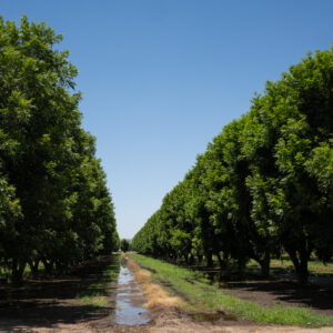
{"label": "dark tree shadow on the ground under the left tree row", "polygon": [[[105,270],[112,271],[111,278],[105,275]],[[70,275],[28,280],[21,287],[1,284],[0,325],[6,323],[11,332],[22,325],[51,327],[105,316],[112,313],[112,304],[84,304],[80,299],[94,295],[110,299],[114,289],[111,283],[115,282],[118,272],[119,259],[108,256],[88,262]]]}

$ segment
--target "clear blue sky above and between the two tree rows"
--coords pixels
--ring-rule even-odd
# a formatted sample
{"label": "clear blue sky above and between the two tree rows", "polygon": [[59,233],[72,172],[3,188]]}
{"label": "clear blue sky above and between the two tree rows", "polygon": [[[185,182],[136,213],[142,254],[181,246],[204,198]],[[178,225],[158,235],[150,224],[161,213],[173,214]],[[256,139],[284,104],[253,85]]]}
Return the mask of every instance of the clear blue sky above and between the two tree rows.
{"label": "clear blue sky above and between the two tree rows", "polygon": [[2,0],[0,14],[64,34],[121,238],[266,80],[333,41],[332,0]]}

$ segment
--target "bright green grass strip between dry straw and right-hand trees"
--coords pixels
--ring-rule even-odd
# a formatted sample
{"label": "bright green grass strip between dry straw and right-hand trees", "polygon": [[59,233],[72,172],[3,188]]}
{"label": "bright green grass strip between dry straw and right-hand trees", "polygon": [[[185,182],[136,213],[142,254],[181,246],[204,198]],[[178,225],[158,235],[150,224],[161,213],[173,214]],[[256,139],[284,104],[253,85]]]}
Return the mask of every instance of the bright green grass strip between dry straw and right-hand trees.
{"label": "bright green grass strip between dry straw and right-hand trees", "polygon": [[231,312],[240,317],[256,323],[275,323],[301,326],[331,326],[333,316],[320,315],[305,307],[281,307],[279,304],[264,307],[255,302],[240,300],[226,295],[218,284],[210,281],[201,272],[191,271],[160,260],[140,254],[130,254],[142,268],[150,269],[155,281],[172,284],[169,292],[183,295],[186,310],[195,314],[200,312],[215,313],[219,310]]}

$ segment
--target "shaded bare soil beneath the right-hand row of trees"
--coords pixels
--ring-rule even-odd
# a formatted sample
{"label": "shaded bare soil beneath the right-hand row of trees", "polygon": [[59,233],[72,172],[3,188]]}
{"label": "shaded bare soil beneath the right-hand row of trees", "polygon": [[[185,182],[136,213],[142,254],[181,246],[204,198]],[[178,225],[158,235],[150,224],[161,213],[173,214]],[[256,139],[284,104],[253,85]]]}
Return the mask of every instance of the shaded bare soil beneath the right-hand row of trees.
{"label": "shaded bare soil beneath the right-hand row of trees", "polygon": [[[201,271],[211,278],[218,278],[220,272],[219,269]],[[319,314],[333,315],[333,274],[311,274],[310,283],[300,284],[293,273],[285,274],[285,271],[272,270],[271,278],[263,279],[260,276],[260,270],[252,268],[246,271],[243,279],[239,279],[233,272],[225,273],[218,280],[226,294],[263,306],[309,307]]]}

